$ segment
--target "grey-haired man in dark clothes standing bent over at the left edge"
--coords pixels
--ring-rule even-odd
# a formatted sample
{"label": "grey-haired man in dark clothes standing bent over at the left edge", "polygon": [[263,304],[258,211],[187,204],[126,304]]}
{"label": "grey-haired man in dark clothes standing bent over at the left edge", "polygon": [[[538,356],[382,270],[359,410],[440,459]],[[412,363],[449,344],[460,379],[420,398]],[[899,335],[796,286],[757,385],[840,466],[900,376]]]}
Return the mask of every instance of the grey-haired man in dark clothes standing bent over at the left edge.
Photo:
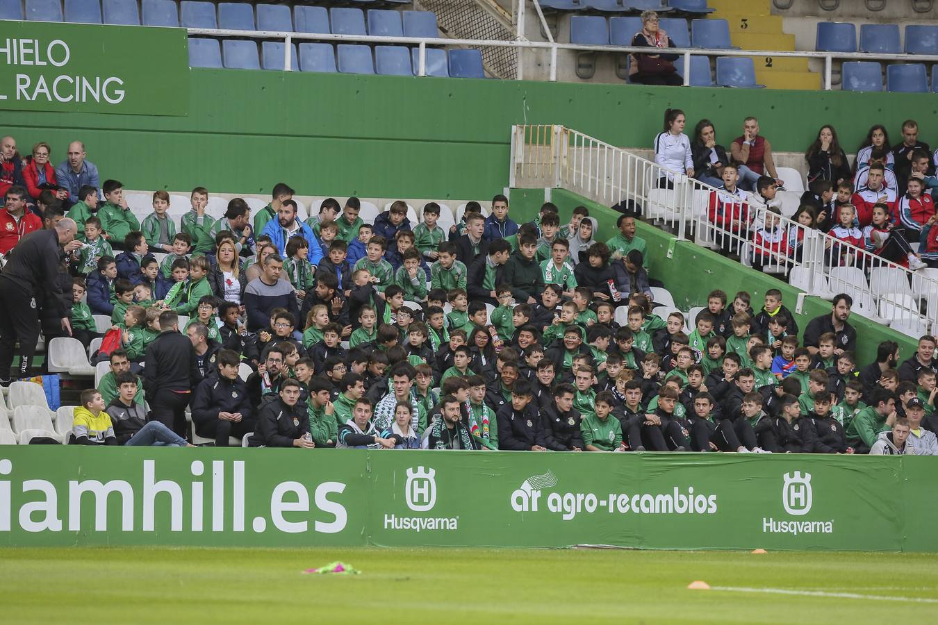
{"label": "grey-haired man in dark clothes standing bent over at the left edge", "polygon": [[10,381],[9,363],[13,347],[20,343],[17,377],[30,375],[39,339],[39,310],[59,320],[64,335],[71,335],[68,308],[64,305],[62,282],[64,254],[82,246],[75,240],[78,227],[72,219],[62,219],[52,230],[26,234],[8,254],[0,274],[0,385]]}

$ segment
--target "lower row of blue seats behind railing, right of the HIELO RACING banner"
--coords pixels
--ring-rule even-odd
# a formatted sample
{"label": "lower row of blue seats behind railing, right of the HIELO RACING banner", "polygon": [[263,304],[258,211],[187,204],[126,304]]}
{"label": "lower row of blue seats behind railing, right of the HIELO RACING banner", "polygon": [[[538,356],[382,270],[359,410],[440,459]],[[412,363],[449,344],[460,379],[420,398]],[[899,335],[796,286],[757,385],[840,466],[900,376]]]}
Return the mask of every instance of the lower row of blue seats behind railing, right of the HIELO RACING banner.
{"label": "lower row of blue seats behind railing, right of the HIELO RACING banner", "polygon": [[[384,74],[416,76],[419,73],[419,49],[402,46],[375,46],[329,43],[291,44],[291,68],[300,71],[348,74]],[[284,48],[280,41],[264,41],[258,56],[257,43],[250,40],[189,37],[191,67],[227,67],[229,69],[283,70]],[[426,49],[427,76],[485,78],[482,54],[477,50]]]}

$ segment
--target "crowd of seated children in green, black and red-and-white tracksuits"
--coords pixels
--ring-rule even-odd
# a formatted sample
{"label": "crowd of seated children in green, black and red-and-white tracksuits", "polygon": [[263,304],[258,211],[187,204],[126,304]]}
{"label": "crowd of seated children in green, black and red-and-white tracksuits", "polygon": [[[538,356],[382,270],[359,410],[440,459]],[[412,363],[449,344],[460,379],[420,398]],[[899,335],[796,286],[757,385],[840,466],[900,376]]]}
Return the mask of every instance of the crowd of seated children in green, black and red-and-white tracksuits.
{"label": "crowd of seated children in green, black and red-and-white tracksuits", "polygon": [[[864,189],[879,180],[875,156]],[[776,182],[759,180],[747,198],[732,165],[722,178],[714,223],[743,232],[757,218],[757,262],[796,253],[798,240],[779,231]],[[923,218],[925,185],[909,183],[898,211],[830,203],[830,231],[864,248],[896,241],[897,227],[918,224],[926,236],[933,208]],[[834,202],[833,186],[812,189],[823,206]],[[496,196],[492,215],[469,202],[445,231],[434,202],[418,224],[403,202],[366,224],[350,198],[325,200],[296,224],[283,217],[295,211],[293,189],[280,184],[253,229],[240,199],[218,221],[206,215],[203,187],[178,225],[169,196],[155,193],[140,225],[120,183],[104,183],[100,208],[90,201],[97,190],[68,213],[84,234],[68,259],[71,316],[85,345],[98,336],[92,315],[110,317],[115,340],[98,359],[111,362],[114,379],[83,394],[76,442],[188,444],[184,432],[144,432],[134,408],[134,374],[170,311],[189,317],[179,330],[198,363],[195,433],[217,445],[250,435],[254,445],[308,449],[938,453],[934,339],[922,338],[931,351],[914,365],[897,370],[887,344],[881,351],[891,352],[861,372],[855,334],[841,340],[846,295],[834,302],[835,316],[845,306],[841,322],[812,321],[803,339],[779,290],[758,311],[749,292],[713,290],[696,319],[662,319],[631,213],[616,232],[600,232],[586,208],[562,222],[547,202],[519,225]],[[813,207],[804,212],[817,221]],[[855,247],[832,249],[831,259],[848,264]]]}

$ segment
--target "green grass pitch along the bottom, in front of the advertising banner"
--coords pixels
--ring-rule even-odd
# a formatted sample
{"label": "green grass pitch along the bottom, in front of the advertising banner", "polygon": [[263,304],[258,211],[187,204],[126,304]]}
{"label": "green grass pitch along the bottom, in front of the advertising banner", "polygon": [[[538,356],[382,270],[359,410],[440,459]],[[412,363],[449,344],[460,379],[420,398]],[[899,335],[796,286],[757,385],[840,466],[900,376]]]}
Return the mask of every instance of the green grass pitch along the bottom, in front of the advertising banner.
{"label": "green grass pitch along the bottom, in front of the advertising banner", "polygon": [[[336,559],[362,574],[301,573]],[[938,621],[930,554],[8,548],[0,579],[5,623]]]}

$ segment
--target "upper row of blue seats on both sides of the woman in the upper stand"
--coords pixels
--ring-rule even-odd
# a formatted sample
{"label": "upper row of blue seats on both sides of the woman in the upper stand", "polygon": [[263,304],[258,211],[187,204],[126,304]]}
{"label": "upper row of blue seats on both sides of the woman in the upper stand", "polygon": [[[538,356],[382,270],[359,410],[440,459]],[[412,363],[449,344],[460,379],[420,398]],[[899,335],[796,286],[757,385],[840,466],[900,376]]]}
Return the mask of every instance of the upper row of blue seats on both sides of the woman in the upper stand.
{"label": "upper row of blue seats on both sides of the woman in the upper stand", "polygon": [[[692,20],[664,18],[660,27],[678,48],[709,48],[732,50],[730,23],[726,20]],[[632,37],[642,30],[642,20],[633,17],[606,18],[601,15],[570,17],[570,43],[589,46],[630,46]]]}

